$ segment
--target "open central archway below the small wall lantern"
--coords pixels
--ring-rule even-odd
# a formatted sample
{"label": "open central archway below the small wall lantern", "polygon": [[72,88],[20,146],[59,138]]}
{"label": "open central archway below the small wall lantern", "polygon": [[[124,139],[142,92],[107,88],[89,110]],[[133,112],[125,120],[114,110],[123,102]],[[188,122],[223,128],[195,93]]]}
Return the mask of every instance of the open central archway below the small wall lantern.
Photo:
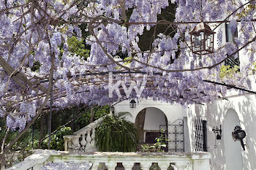
{"label": "open central archway below the small wall lantern", "polygon": [[139,130],[139,143],[154,144],[155,139],[159,137],[159,126],[167,125],[167,118],[162,110],[147,107],[138,113],[135,125]]}

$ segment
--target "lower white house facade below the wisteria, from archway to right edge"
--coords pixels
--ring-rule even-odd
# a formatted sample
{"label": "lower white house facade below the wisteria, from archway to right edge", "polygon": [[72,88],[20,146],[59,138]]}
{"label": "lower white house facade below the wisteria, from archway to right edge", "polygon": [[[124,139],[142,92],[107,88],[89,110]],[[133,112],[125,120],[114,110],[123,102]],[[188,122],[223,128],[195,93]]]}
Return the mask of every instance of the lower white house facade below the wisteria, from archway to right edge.
{"label": "lower white house facade below the wisteria, from archway to right edge", "polygon": [[[226,99],[217,99],[208,104],[192,104],[186,107],[148,99],[137,102],[135,108],[129,107],[129,101],[122,101],[115,105],[115,112],[130,112],[131,115],[127,116],[127,120],[136,124],[136,117],[146,109],[143,139],[146,139],[148,132],[159,132],[159,125],[168,123],[170,130],[168,139],[170,141],[173,139],[183,140],[184,152],[210,152],[212,170],[249,170],[256,167],[255,103],[256,96],[250,93],[230,95]],[[184,134],[175,138],[170,128],[171,123],[175,123],[176,120],[184,120]],[[198,122],[206,123],[206,126],[200,126],[204,129],[198,130]],[[239,140],[233,140],[232,132],[236,125],[241,126],[246,132],[246,137],[243,140],[245,150],[241,147]],[[222,129],[221,139],[217,139],[217,134],[213,131],[213,128],[217,127]],[[198,138],[197,135],[202,136]],[[205,146],[200,147],[198,144]],[[168,150],[175,152],[171,142],[168,144]]]}

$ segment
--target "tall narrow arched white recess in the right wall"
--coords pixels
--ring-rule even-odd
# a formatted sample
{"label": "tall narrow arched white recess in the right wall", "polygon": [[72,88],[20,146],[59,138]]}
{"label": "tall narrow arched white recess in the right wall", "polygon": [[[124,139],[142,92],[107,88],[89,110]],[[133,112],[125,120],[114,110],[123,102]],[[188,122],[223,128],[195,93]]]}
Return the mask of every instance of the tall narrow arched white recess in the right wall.
{"label": "tall narrow arched white recess in the right wall", "polygon": [[240,126],[239,117],[235,110],[227,110],[225,120],[223,123],[223,137],[225,143],[225,158],[226,158],[226,170],[242,170],[243,160],[241,155],[241,144],[239,141],[234,141],[232,138],[232,131],[236,127]]}

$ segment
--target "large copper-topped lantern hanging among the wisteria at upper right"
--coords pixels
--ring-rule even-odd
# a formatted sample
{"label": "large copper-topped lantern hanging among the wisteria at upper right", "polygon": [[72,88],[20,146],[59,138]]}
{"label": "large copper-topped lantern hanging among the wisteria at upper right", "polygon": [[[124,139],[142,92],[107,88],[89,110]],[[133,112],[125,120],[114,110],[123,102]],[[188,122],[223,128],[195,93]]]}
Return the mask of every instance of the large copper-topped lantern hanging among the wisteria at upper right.
{"label": "large copper-topped lantern hanging among the wisteria at upper right", "polygon": [[189,33],[191,36],[192,53],[206,55],[214,53],[214,34],[206,23],[198,23]]}

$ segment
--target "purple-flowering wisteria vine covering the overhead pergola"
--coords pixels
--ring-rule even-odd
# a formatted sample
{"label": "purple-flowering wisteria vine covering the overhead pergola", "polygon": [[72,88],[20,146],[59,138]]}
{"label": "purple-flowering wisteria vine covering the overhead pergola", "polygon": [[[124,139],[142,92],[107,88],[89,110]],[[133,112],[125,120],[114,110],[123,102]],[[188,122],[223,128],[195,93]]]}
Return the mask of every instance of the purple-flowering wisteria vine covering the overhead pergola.
{"label": "purple-flowering wisteria vine covering the overhead pergola", "polygon": [[[165,24],[170,24],[176,33],[152,35],[156,38],[151,49],[140,50],[140,36],[156,24],[163,24],[157,15],[170,3],[176,4],[176,19]],[[51,88],[56,109],[74,104],[112,104],[120,98],[116,94],[113,98],[108,96],[108,72],[116,72],[115,81],[124,80],[127,86],[130,80],[140,85],[146,74],[146,88],[140,98],[183,105],[208,102],[225,96],[227,87],[203,80],[219,82],[220,66],[238,51],[249,56],[249,64],[240,68],[243,74],[237,73],[225,82],[250,89],[247,76],[255,60],[255,9],[247,7],[254,3],[243,6],[231,0],[0,1],[0,117],[6,117],[7,127],[13,131],[26,131],[42,109],[49,107]],[[233,31],[238,29],[238,37],[224,43],[219,29],[215,53],[192,54],[189,31],[202,20],[228,21]],[[81,30],[80,24],[86,24],[86,28]],[[217,27],[217,23],[210,26]],[[87,60],[72,53],[67,43],[72,36],[81,39],[83,31],[90,33],[85,39],[91,47]],[[120,53],[127,58],[121,58]],[[39,63],[36,72],[31,69],[35,62]],[[3,144],[1,153],[10,145]]]}

